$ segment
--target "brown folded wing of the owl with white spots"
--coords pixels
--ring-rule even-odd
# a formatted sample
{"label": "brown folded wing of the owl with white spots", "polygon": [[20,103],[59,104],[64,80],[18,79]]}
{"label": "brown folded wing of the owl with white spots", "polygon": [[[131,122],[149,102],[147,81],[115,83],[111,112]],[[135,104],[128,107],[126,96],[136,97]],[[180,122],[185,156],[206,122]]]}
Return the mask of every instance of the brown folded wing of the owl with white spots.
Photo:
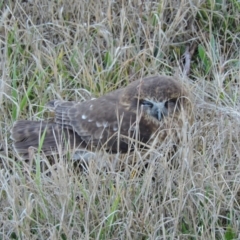
{"label": "brown folded wing of the owl with white spots", "polygon": [[48,106],[55,112],[55,122],[75,131],[86,144],[95,147],[106,144],[112,152],[118,149],[125,152],[128,143],[124,139],[117,141],[118,134],[128,136],[136,116],[121,106],[120,95],[121,90],[117,90],[85,102],[54,100]]}

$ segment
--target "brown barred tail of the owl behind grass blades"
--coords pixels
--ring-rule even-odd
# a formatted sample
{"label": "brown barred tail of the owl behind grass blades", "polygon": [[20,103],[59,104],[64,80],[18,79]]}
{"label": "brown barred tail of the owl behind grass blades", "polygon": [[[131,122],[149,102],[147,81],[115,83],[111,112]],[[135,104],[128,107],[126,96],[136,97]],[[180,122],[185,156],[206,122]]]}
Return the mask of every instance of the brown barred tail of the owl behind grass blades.
{"label": "brown barred tail of the owl behind grass blades", "polygon": [[23,158],[29,159],[31,150],[41,151],[46,156],[77,148],[83,144],[72,129],[54,122],[22,120],[14,123],[11,131],[13,147]]}

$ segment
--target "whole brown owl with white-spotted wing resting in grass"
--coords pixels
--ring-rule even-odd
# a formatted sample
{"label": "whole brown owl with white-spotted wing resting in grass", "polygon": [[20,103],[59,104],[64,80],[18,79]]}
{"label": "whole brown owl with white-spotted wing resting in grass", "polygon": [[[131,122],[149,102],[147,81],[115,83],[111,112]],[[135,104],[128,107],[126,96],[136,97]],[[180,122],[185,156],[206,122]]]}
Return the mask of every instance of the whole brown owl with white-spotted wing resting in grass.
{"label": "whole brown owl with white-spotted wing resting in grass", "polygon": [[163,141],[170,122],[180,126],[192,116],[187,90],[165,76],[139,79],[85,102],[53,100],[47,107],[55,112],[53,122],[21,120],[13,126],[14,148],[24,158],[30,147],[39,146],[46,155],[102,147],[124,153],[133,147],[133,140],[149,143],[159,131]]}

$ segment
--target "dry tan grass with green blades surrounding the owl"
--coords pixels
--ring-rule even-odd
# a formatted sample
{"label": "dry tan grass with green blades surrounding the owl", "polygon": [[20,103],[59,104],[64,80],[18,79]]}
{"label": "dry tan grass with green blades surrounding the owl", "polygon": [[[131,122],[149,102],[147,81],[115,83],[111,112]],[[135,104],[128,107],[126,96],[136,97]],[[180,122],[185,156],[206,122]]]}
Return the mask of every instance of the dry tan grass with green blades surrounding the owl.
{"label": "dry tan grass with green blades surrounding the owl", "polygon": [[[0,10],[1,239],[240,239],[239,1],[2,0]],[[171,139],[148,155],[96,153],[85,170],[13,152],[12,123],[43,118],[50,99],[152,74],[177,75],[195,99],[174,167]],[[132,158],[138,168],[116,171]]]}

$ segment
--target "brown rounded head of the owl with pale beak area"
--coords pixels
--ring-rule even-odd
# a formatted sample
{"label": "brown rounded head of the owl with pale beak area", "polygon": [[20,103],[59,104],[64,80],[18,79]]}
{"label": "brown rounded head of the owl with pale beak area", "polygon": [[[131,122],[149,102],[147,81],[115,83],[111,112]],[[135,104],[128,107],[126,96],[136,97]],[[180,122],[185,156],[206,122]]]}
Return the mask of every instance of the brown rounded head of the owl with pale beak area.
{"label": "brown rounded head of the owl with pale beak area", "polygon": [[151,124],[159,125],[169,117],[178,121],[181,113],[192,121],[190,94],[173,78],[155,76],[132,82],[123,91],[120,103],[125,111],[135,112]]}

